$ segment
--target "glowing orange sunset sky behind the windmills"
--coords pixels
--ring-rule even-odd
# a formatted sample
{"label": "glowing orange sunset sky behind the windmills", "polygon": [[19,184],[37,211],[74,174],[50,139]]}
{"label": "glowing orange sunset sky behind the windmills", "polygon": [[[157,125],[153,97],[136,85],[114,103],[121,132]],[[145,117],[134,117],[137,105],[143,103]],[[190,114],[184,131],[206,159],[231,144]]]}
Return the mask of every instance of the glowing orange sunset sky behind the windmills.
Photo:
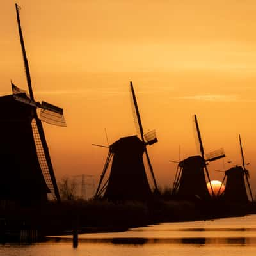
{"label": "glowing orange sunset sky behind the windmills", "polygon": [[[94,174],[106,144],[135,134],[129,81],[144,130],[156,129],[149,148],[156,179],[173,182],[179,160],[197,154],[196,113],[205,152],[221,147],[225,168],[240,164],[238,134],[256,192],[255,1],[20,0],[21,22],[36,100],[65,109],[67,128],[45,124],[58,179]],[[26,87],[15,1],[1,1],[1,95],[10,79]],[[232,164],[227,161],[232,160]],[[223,161],[209,165],[222,179]]]}

